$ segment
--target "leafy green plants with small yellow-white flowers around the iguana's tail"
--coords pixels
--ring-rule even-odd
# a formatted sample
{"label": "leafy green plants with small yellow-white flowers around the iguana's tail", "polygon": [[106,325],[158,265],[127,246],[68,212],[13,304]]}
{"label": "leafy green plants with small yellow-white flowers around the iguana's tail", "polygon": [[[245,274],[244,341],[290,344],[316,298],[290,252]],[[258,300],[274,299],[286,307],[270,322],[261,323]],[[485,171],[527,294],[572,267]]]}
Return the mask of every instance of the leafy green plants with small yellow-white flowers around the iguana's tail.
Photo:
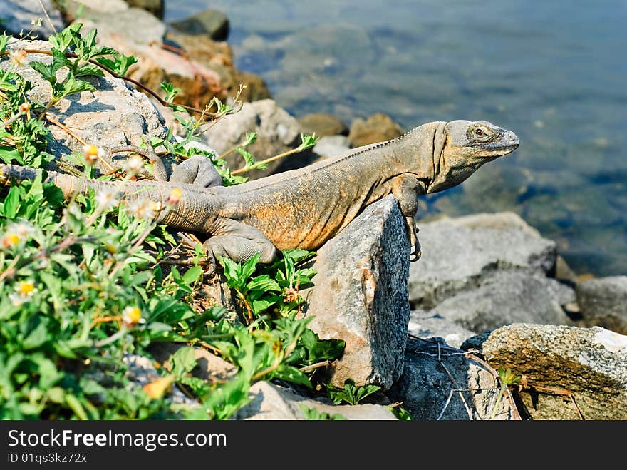
{"label": "leafy green plants with small yellow-white flowers around the iguana's tail", "polygon": [[[9,56],[15,66],[0,71],[4,163],[39,168],[51,160],[46,113],[73,93],[95,89],[95,82],[85,78],[110,73],[132,81],[124,74],[137,59],[98,46],[97,32],[83,35],[81,27],[73,24],[51,36],[50,51],[8,51],[9,37],[0,36],[0,56]],[[16,73],[28,53],[51,57],[30,63],[51,85],[46,103],[28,103],[31,83]],[[165,98],[157,96],[162,104],[200,117],[180,117],[182,141],[168,134],[149,144],[177,158],[205,155],[225,184],[246,180],[223,159],[187,147],[197,140],[202,123],[237,109],[217,99],[204,110],[176,105],[177,90],[170,84],[162,90]],[[210,113],[210,108],[217,111]],[[304,135],[299,148],[257,162],[245,150],[256,138],[249,133],[234,148],[246,160],[238,173],[315,143],[315,136]],[[92,178],[92,160],[101,150],[90,145],[84,158],[66,158],[83,167],[82,178]],[[155,218],[172,210],[176,198],[162,208],[141,199],[120,204],[120,194],[139,168],[125,170],[115,188],[75,194],[67,201],[58,188],[43,183],[43,176],[0,188],[0,419],[227,419],[249,402],[249,387],[259,380],[311,389],[316,369],[340,357],[345,347],[341,340],[319,339],[307,327],[311,319],[296,319],[304,302],[299,288],[310,285],[315,274],[300,264],[314,253],[285,251],[269,266],[256,259],[243,265],[222,260],[247,315],[243,322],[232,322],[222,307],[196,312],[190,305],[204,279],[202,248],[183,271],[167,264],[165,248],[175,240]],[[151,357],[156,342],[205,347],[232,362],[237,374],[218,384],[194,377],[196,359],[190,347],[183,347],[170,357],[169,370],[158,369],[160,376],[140,387],[129,379],[127,359]],[[173,404],[167,392],[175,384],[197,406]]]}

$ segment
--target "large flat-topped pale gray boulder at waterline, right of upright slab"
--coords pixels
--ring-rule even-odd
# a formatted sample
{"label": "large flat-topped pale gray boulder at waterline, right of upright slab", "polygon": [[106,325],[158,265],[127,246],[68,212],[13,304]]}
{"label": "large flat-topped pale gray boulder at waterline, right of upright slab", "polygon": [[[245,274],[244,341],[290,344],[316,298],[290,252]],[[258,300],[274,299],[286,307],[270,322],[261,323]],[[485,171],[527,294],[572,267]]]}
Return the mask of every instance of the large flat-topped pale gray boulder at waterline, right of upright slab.
{"label": "large flat-topped pale gray boulder at waterline, right of upright slab", "polygon": [[457,292],[478,287],[497,270],[553,270],[556,243],[525,225],[512,213],[419,223],[423,256],[410,266],[412,307],[429,310]]}

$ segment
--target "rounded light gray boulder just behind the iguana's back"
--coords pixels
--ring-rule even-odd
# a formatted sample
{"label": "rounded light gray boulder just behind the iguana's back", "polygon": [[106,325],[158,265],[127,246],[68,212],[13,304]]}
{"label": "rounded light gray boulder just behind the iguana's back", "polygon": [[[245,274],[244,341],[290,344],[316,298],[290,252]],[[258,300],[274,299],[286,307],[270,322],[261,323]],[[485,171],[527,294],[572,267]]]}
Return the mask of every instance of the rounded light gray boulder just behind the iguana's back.
{"label": "rounded light gray boulder just behind the iguana's back", "polygon": [[[296,118],[271,99],[244,103],[237,113],[219,119],[200,138],[222,154],[244,142],[247,132],[257,132],[257,141],[247,147],[257,160],[286,152],[301,143],[301,128]],[[244,166],[239,153],[232,152],[225,159],[232,170]],[[279,165],[281,160],[276,160],[265,170],[252,170],[246,175],[250,179],[261,178],[273,173]]]}

